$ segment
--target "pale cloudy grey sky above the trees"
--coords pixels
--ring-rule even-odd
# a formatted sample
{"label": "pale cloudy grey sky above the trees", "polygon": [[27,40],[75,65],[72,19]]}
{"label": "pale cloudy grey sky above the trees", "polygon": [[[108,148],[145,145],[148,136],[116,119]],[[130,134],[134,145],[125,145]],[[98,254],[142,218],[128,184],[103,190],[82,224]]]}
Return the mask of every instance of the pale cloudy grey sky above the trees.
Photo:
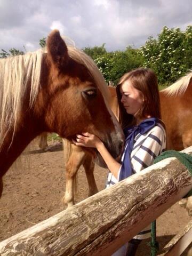
{"label": "pale cloudy grey sky above the trees", "polygon": [[192,25],[191,0],[0,0],[0,49],[39,49],[51,30],[76,47],[140,47],[164,26]]}

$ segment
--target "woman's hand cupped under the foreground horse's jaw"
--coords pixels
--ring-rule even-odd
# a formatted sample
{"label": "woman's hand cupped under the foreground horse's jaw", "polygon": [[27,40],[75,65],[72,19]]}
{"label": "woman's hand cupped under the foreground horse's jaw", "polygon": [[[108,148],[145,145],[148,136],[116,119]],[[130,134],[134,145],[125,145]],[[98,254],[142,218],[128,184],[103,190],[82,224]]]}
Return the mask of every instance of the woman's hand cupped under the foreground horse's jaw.
{"label": "woman's hand cupped under the foreground horse's jaw", "polygon": [[89,132],[82,132],[82,135],[77,134],[76,141],[73,140],[76,146],[83,146],[87,148],[98,148],[102,141]]}

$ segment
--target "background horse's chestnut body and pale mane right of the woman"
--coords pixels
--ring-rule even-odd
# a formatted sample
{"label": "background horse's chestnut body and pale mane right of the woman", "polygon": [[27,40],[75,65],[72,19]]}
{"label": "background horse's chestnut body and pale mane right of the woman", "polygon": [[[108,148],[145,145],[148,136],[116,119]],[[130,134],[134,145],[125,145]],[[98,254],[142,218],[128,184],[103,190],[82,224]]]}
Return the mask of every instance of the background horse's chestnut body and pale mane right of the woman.
{"label": "background horse's chestnut body and pale mane right of the woman", "polygon": [[160,91],[162,119],[167,132],[167,149],[182,150],[192,145],[192,72]]}

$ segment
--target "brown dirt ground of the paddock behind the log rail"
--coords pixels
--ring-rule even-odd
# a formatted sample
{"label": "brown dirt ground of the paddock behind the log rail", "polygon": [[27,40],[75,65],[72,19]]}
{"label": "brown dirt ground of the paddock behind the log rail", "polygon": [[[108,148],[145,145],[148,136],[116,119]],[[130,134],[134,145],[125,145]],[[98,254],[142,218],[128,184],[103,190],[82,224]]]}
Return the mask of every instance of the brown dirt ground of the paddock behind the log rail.
{"label": "brown dirt ground of the paddock behind the log rail", "polygon": [[[29,156],[21,157],[22,167],[12,166],[6,173],[0,201],[0,241],[33,226],[63,210],[61,198],[65,191],[63,152],[59,142],[49,142],[52,151],[44,153],[36,142]],[[28,159],[28,161],[26,161]],[[28,162],[28,163],[27,163]],[[29,168],[30,165],[30,168]],[[95,167],[99,190],[104,188],[107,170]],[[76,202],[87,197],[87,183],[83,168],[78,172]],[[188,223],[185,209],[173,205],[157,220],[157,239],[162,248]],[[148,241],[142,242],[137,256],[150,255]],[[192,245],[191,245],[192,246]],[[189,246],[190,247],[190,246]],[[182,254],[187,255],[189,248]]]}

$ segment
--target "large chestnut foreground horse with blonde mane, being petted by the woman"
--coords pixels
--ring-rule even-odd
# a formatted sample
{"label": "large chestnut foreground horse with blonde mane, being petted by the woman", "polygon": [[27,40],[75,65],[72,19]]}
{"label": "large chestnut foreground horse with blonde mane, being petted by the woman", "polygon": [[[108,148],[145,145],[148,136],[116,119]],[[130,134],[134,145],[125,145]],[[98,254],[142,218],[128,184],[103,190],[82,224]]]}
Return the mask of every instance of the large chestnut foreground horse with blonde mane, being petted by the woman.
{"label": "large chestnut foreground horse with blonde mane, being petted by the woman", "polygon": [[[94,61],[66,45],[58,30],[47,37],[46,49],[1,59],[0,196],[3,175],[42,132],[55,132],[71,141],[77,133],[89,131],[114,157],[121,155],[123,132],[109,98]],[[97,151],[88,151],[102,165]]]}

